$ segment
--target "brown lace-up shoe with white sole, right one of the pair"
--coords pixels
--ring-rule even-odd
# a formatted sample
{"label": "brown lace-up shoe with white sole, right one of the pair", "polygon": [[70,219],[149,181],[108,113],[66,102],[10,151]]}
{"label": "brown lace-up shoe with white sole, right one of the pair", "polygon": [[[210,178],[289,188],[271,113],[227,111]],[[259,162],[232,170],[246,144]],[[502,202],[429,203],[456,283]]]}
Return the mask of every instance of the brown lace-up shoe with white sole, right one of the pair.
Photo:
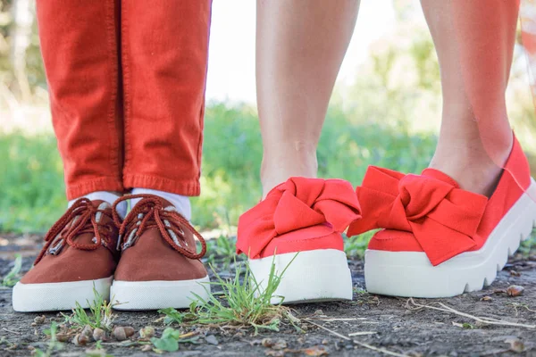
{"label": "brown lace-up shoe with white sole, right one of the pair", "polygon": [[[111,295],[117,310],[187,308],[196,295],[208,298],[210,280],[203,263],[205,239],[175,207],[156,195],[126,195],[142,198],[122,222],[115,210],[113,220],[121,225],[118,248],[121,260],[115,270]],[[202,245],[197,253],[196,240]]]}

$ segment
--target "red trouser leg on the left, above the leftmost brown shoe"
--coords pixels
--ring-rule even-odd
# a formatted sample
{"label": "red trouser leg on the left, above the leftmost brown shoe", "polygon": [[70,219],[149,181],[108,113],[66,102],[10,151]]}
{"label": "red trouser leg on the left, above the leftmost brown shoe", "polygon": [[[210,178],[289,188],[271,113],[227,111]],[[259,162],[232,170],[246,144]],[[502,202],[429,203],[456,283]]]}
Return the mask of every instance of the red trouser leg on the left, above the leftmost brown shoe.
{"label": "red trouser leg on the left, above the leftmost brown shoe", "polygon": [[123,191],[118,5],[114,0],[37,2],[68,199]]}

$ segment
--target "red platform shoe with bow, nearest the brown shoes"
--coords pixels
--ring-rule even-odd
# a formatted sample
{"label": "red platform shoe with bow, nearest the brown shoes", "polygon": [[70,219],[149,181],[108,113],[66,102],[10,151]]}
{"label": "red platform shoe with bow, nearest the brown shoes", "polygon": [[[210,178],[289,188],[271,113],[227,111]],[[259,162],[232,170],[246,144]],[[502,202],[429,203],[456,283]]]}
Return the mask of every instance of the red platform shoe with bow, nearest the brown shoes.
{"label": "red platform shoe with bow, nearest the brown shoes", "polygon": [[341,233],[360,217],[349,182],[291,178],[240,217],[237,251],[261,290],[282,273],[272,303],[351,300]]}

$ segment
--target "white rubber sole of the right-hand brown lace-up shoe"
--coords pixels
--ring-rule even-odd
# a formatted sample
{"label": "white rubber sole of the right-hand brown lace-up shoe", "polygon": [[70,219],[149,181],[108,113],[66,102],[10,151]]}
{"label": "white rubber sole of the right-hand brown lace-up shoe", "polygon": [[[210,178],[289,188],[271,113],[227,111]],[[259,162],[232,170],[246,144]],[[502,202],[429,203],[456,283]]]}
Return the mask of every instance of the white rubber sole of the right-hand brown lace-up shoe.
{"label": "white rubber sole of the right-hand brown lace-up shoe", "polygon": [[121,281],[114,280],[110,295],[115,310],[158,310],[166,307],[186,309],[197,300],[195,293],[207,300],[210,295],[210,279],[180,281]]}

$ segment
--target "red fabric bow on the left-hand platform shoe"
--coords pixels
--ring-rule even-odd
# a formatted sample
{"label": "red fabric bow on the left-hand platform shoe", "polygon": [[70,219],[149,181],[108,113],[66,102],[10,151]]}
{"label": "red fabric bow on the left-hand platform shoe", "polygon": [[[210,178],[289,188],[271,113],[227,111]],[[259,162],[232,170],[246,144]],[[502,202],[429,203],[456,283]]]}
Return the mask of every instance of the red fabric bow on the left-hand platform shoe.
{"label": "red fabric bow on the left-hand platform shoe", "polygon": [[273,238],[285,233],[322,224],[341,233],[359,218],[361,209],[348,181],[291,178],[242,214],[237,253],[258,258]]}

